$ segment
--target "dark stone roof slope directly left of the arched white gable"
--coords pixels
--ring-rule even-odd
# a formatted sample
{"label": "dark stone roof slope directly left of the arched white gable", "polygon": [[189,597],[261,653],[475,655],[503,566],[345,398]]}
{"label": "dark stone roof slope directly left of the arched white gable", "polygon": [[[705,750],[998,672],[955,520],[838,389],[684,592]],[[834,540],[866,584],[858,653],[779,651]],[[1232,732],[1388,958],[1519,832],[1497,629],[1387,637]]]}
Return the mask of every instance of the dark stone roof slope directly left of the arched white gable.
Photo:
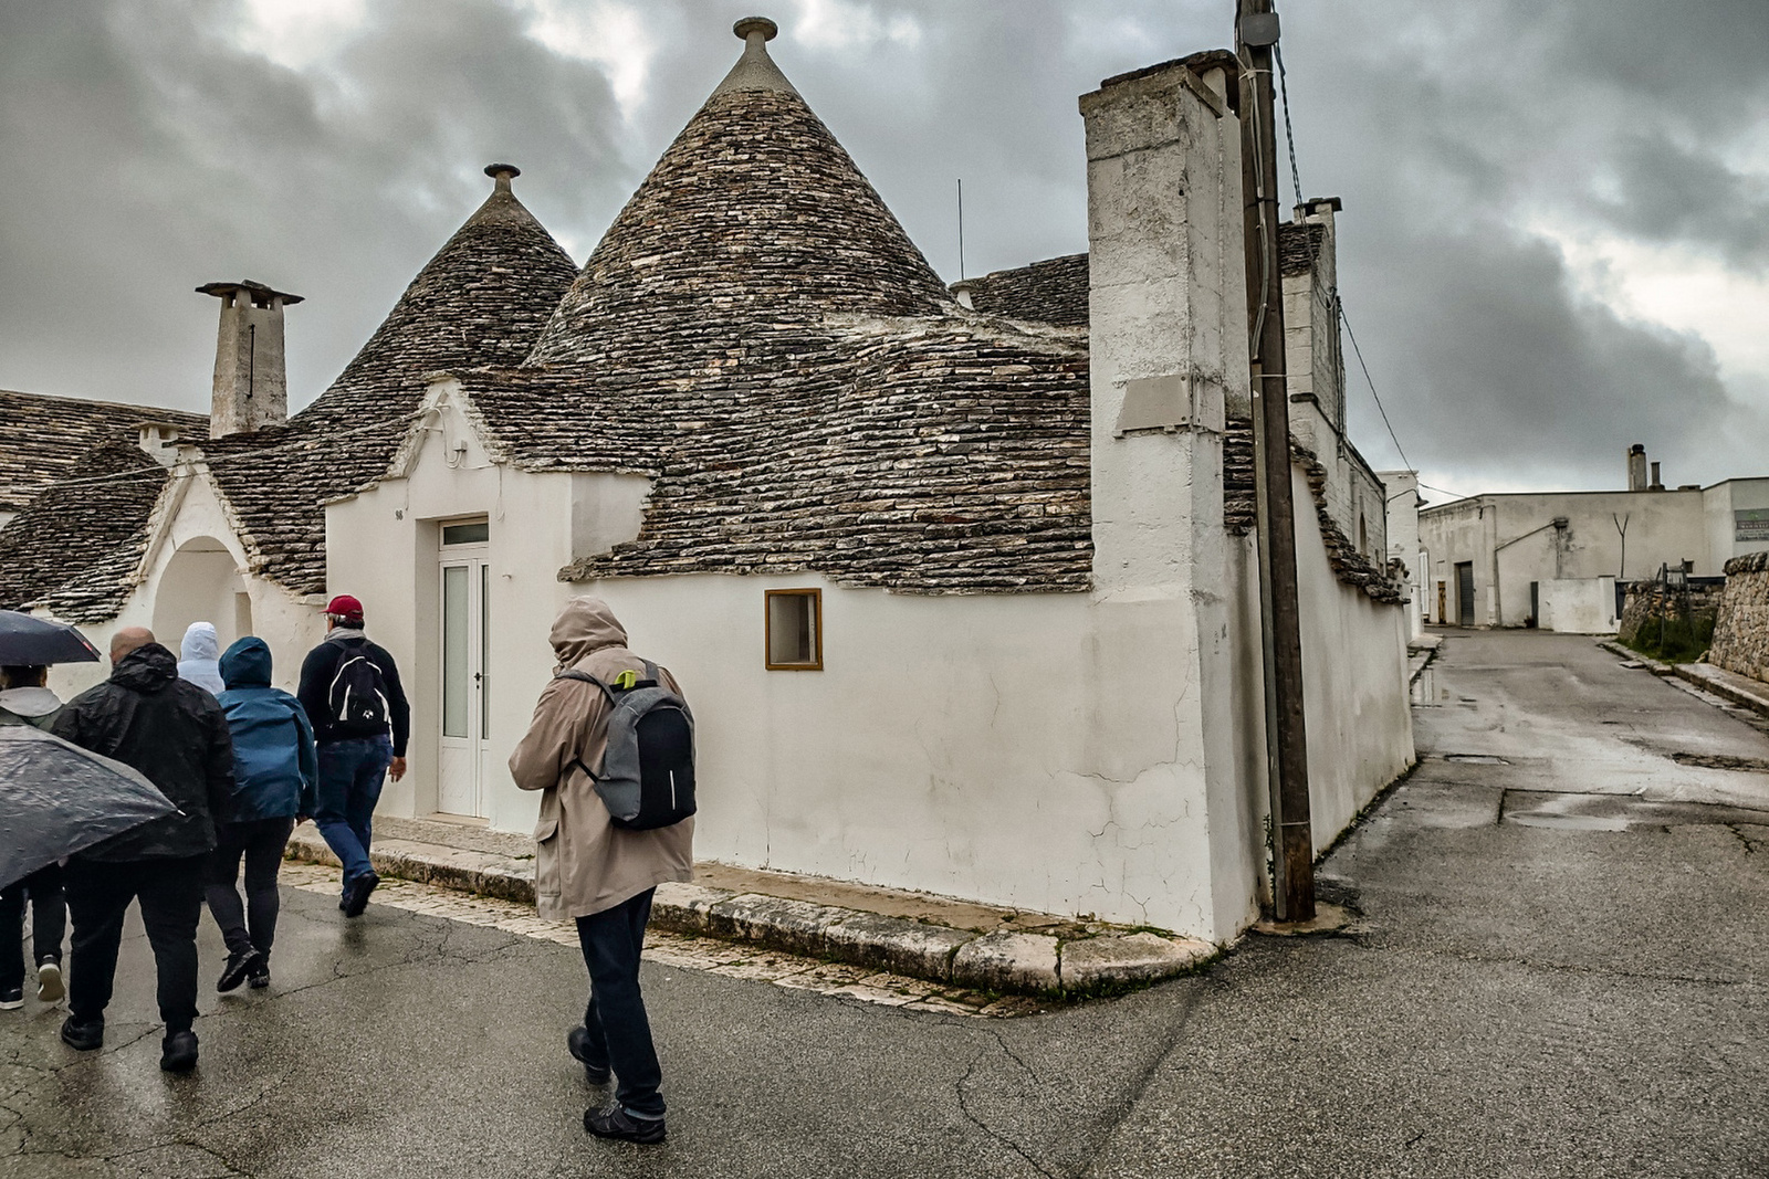
{"label": "dark stone roof slope directly left of the arched white gable", "polygon": [[133,444],[87,451],[80,481],[44,488],[0,529],[0,608],[46,606],[69,622],[117,617],[166,477]]}

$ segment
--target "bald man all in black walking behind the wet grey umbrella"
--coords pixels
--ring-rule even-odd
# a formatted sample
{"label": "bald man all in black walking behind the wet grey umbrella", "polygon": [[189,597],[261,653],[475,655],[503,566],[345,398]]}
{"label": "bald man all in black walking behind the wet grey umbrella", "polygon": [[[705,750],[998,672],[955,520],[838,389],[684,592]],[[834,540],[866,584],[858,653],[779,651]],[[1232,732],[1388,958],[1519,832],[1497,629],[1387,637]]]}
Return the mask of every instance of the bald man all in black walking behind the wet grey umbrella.
{"label": "bald man all in black walking behind the wet grey umbrella", "polygon": [[166,1023],[159,1068],[184,1073],[196,1068],[191,1025],[203,864],[216,845],[216,818],[226,817],[234,794],[234,742],[221,705],[179,679],[179,661],[152,631],[117,631],[110,658],[110,679],[69,700],[50,732],[142,771],[179,810],[67,861],[74,937],[62,1041],[81,1052],[104,1043],[122,921],[129,903],[140,901]]}

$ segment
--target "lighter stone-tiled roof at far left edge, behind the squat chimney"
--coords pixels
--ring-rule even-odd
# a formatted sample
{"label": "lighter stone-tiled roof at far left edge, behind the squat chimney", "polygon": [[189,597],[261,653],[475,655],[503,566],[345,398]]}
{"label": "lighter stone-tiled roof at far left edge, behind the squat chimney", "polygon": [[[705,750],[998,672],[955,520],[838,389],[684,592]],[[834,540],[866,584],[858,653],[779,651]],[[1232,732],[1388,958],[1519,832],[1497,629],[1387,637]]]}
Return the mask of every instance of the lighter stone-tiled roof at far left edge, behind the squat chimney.
{"label": "lighter stone-tiled roof at far left edge, behind the squat chimney", "polygon": [[133,445],[145,422],[166,422],[182,438],[209,435],[203,414],[0,389],[0,511],[23,509],[50,483],[92,474],[97,449]]}

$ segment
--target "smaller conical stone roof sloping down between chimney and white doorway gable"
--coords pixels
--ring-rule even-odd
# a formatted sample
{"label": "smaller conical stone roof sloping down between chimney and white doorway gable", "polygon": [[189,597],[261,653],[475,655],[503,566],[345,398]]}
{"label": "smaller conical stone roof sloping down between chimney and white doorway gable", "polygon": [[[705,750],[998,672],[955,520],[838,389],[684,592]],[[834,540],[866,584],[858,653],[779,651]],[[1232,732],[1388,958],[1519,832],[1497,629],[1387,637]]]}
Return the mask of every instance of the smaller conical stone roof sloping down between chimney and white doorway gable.
{"label": "smaller conical stone roof sloping down between chimney and white doorway gable", "polygon": [[423,401],[425,375],[513,366],[534,346],[577,265],[509,191],[515,170],[502,171],[313,405],[285,426],[203,447],[253,573],[297,594],[324,592],[324,504],[386,472]]}

